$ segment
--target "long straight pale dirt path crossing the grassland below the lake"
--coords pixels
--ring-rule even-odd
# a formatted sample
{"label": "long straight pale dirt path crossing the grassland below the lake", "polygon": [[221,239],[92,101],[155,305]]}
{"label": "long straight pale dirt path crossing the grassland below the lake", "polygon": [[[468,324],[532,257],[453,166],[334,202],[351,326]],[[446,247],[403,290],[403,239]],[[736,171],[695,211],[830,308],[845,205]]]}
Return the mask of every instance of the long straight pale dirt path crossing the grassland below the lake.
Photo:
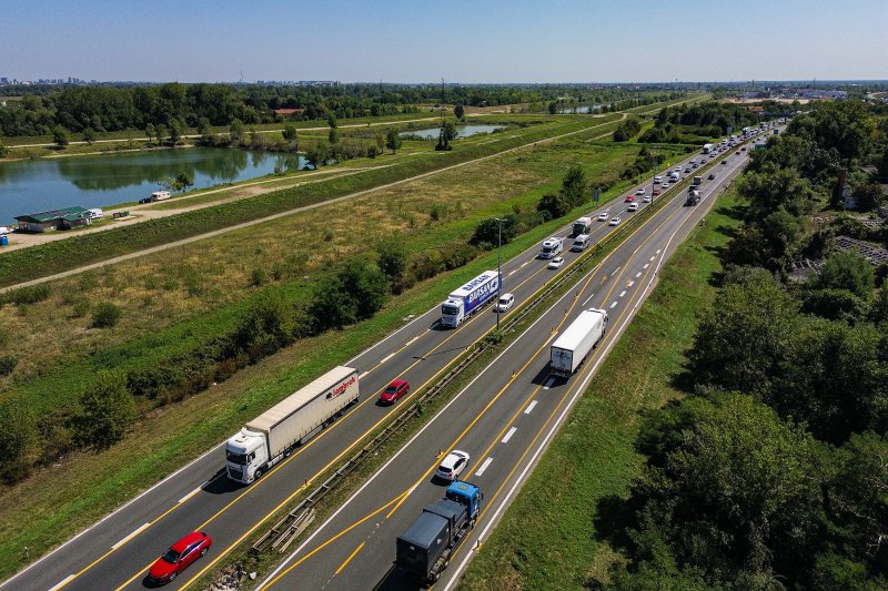
{"label": "long straight pale dirt path crossing the grassland below the lake", "polygon": [[[625,118],[626,118],[626,114],[624,113],[622,119],[625,119]],[[566,132],[566,133],[562,133],[562,134],[558,134],[558,135],[553,135],[552,137],[546,137],[545,140],[537,140],[536,142],[531,142],[528,144],[522,144],[522,145],[518,145],[518,146],[515,146],[515,147],[509,147],[508,150],[504,150],[504,151],[497,152],[495,154],[488,154],[486,156],[480,156],[480,157],[476,157],[476,159],[473,159],[473,160],[470,160],[470,161],[466,161],[466,162],[460,162],[457,164],[452,164],[452,165],[445,166],[443,169],[437,169],[437,170],[428,171],[428,172],[425,172],[425,173],[422,173],[422,174],[416,174],[416,175],[410,176],[407,179],[402,179],[400,181],[394,181],[392,183],[386,183],[384,185],[374,186],[372,188],[366,188],[364,191],[356,191],[354,193],[349,193],[347,195],[342,195],[341,197],[334,197],[334,198],[326,200],[326,201],[323,201],[323,202],[320,202],[320,203],[314,203],[312,205],[304,205],[302,207],[295,207],[293,210],[287,210],[285,212],[280,212],[280,213],[276,213],[276,214],[273,214],[273,215],[268,215],[265,217],[260,217],[260,218],[256,218],[256,220],[251,220],[249,222],[242,222],[240,224],[234,224],[232,226],[224,227],[224,228],[221,228],[221,230],[214,230],[212,232],[206,232],[206,233],[203,233],[203,234],[198,234],[198,235],[194,235],[194,236],[190,236],[188,238],[182,238],[181,241],[170,242],[170,243],[167,243],[167,244],[161,244],[159,246],[152,246],[150,248],[144,248],[144,249],[141,249],[141,251],[138,251],[138,252],[134,252],[134,253],[129,253],[129,254],[125,254],[125,255],[115,256],[115,257],[112,257],[112,258],[108,258],[105,261],[101,261],[99,263],[92,263],[90,265],[84,265],[82,267],[72,268],[72,269],[69,269],[69,271],[64,271],[62,273],[57,273],[54,275],[49,275],[47,277],[39,277],[37,279],[31,279],[31,281],[28,281],[28,282],[16,284],[16,285],[10,285],[8,287],[0,288],[0,294],[9,292],[10,289],[16,289],[18,287],[26,287],[26,286],[29,286],[29,285],[38,285],[38,284],[41,284],[41,283],[50,282],[50,281],[53,281],[53,279],[59,279],[59,278],[62,278],[62,277],[69,277],[71,275],[77,275],[77,274],[83,273],[85,271],[101,268],[101,267],[107,266],[107,265],[113,265],[113,264],[117,264],[117,263],[121,263],[123,261],[130,261],[132,258],[138,258],[140,256],[145,256],[145,255],[149,255],[149,254],[159,253],[159,252],[165,251],[168,248],[175,248],[178,246],[182,246],[182,245],[185,245],[185,244],[191,244],[192,242],[198,242],[198,241],[202,241],[202,240],[206,240],[206,238],[212,238],[212,237],[225,234],[228,232],[235,232],[238,230],[243,230],[243,228],[246,228],[246,227],[250,227],[250,226],[254,226],[256,224],[264,224],[265,222],[270,222],[272,220],[279,220],[281,217],[286,217],[289,215],[294,215],[294,214],[299,214],[301,212],[315,210],[317,207],[323,207],[323,206],[330,205],[332,203],[340,203],[340,202],[343,202],[343,201],[353,200],[353,198],[360,197],[362,195],[367,195],[367,194],[374,193],[376,191],[382,191],[382,190],[385,190],[385,188],[391,188],[393,186],[402,185],[404,183],[410,183],[410,182],[416,181],[418,179],[425,179],[427,176],[433,176],[433,175],[436,175],[436,174],[441,174],[443,172],[452,171],[452,170],[455,170],[455,169],[461,169],[463,166],[467,166],[470,164],[475,164],[477,162],[484,162],[486,160],[500,157],[503,154],[508,154],[508,153],[515,152],[517,150],[524,150],[524,149],[527,149],[527,147],[533,147],[533,146],[538,145],[538,144],[545,144],[545,143],[554,142],[556,140],[561,140],[562,137],[568,137],[571,135],[576,135],[577,133],[585,133],[585,132],[588,132],[591,130],[594,130],[595,128],[609,125],[610,123],[613,123],[613,122],[601,123],[598,125],[592,125],[589,128],[583,128],[582,130],[575,130],[575,131],[569,131],[569,132]],[[193,208],[200,208],[200,206],[195,206]],[[175,213],[181,213],[181,211],[179,211],[179,210],[168,210],[168,211],[163,212],[163,214],[165,214],[165,215],[173,215]],[[119,226],[110,226],[110,227],[119,227]],[[68,237],[68,236],[70,236],[70,234],[67,235],[65,237]]]}

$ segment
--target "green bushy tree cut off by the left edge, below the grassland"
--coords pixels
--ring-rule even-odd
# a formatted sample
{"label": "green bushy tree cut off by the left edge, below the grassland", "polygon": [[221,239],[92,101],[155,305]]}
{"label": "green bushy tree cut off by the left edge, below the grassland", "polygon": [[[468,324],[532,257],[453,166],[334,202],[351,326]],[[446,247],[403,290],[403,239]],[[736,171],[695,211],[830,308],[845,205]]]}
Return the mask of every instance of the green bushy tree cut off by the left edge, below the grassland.
{"label": "green bushy tree cut off by the left edge, below the grassland", "polygon": [[31,472],[37,427],[30,407],[18,398],[0,401],[0,481],[18,482]]}

